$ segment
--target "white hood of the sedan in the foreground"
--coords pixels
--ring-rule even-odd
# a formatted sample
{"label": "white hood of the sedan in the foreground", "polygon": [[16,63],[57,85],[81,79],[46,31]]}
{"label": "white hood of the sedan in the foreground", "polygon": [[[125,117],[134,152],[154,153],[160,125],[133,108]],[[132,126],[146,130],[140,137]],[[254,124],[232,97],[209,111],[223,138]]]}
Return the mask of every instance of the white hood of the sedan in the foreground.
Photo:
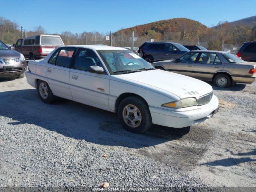
{"label": "white hood of the sedan in the foreground", "polygon": [[116,75],[120,80],[144,85],[147,88],[170,93],[179,98],[200,97],[212,92],[212,86],[206,82],[188,76],[167,72],[164,70],[148,70],[142,72]]}

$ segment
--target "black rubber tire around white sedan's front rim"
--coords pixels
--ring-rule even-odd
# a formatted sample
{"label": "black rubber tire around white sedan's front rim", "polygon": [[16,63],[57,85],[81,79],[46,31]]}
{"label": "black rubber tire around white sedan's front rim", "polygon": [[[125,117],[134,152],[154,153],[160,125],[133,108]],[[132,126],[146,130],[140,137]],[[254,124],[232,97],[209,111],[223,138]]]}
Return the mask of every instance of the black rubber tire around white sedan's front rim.
{"label": "black rubber tire around white sedan's front rim", "polygon": [[[131,127],[132,126],[131,124],[130,124],[131,126],[128,126],[128,124],[126,123],[123,117],[123,113],[125,114],[126,112],[126,107],[131,105],[138,108],[139,114],[140,114],[141,121],[140,121],[140,124],[138,124],[136,127]],[[129,113],[129,116],[130,116],[130,113]],[[150,128],[150,126],[152,125],[152,118],[148,108],[148,104],[144,100],[136,96],[130,96],[122,100],[122,102],[118,106],[118,118],[122,126],[126,130],[134,133],[143,133],[146,130],[148,130],[148,128]],[[131,121],[130,117],[128,117],[128,122],[129,121]]]}

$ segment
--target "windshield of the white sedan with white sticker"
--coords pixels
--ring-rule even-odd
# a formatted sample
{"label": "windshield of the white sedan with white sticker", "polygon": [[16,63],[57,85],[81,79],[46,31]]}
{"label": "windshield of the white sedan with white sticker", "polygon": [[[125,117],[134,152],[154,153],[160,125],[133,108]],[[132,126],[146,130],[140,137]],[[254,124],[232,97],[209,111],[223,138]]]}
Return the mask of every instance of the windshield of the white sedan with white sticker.
{"label": "windshield of the white sedan with white sticker", "polygon": [[129,50],[99,50],[98,53],[111,74],[154,69],[150,63]]}

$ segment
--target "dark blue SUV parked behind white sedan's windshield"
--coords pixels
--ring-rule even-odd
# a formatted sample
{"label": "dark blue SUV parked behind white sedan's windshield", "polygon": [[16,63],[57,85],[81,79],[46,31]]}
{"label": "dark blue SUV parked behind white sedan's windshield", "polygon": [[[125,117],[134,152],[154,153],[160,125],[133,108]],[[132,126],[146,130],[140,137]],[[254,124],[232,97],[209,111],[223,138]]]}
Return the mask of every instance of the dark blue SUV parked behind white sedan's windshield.
{"label": "dark blue SUV parked behind white sedan's windshield", "polygon": [[145,42],[140,46],[138,53],[147,62],[176,59],[189,50],[178,43]]}

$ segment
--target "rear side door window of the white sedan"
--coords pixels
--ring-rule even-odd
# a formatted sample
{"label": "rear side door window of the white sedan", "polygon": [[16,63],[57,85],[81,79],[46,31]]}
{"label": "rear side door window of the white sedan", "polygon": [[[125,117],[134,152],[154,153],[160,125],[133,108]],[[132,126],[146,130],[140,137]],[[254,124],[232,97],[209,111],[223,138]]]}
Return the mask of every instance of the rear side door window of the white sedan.
{"label": "rear side door window of the white sedan", "polygon": [[76,48],[61,49],[51,56],[48,63],[55,64],[62,67],[69,67],[71,58]]}

